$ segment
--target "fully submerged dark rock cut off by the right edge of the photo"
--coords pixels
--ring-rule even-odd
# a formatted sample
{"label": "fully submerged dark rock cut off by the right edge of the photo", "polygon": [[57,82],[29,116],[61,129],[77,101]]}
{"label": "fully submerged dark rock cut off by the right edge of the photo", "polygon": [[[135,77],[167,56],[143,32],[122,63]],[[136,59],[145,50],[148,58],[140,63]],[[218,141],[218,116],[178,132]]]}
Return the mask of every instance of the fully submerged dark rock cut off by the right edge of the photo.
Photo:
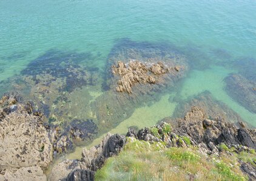
{"label": "fully submerged dark rock cut off by the right edge of the photo", "polygon": [[247,79],[240,74],[231,74],[225,78],[226,92],[241,106],[256,113],[256,87],[255,81]]}

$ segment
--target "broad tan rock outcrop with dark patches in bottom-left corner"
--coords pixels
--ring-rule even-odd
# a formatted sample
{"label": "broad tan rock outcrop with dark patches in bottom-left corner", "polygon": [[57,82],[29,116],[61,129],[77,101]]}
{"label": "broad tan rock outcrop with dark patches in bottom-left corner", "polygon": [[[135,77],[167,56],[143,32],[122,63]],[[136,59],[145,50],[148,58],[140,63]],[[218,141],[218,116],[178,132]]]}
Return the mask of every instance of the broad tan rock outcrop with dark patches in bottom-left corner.
{"label": "broad tan rock outcrop with dark patches in bottom-left corner", "polygon": [[[44,116],[38,112],[33,113],[32,103],[19,103],[17,97],[13,95],[5,95],[2,100],[4,101],[0,105],[1,177],[7,180],[44,180],[42,170],[49,167],[52,162],[53,151],[58,152],[56,145],[67,149],[70,147],[69,139],[63,140],[64,137],[59,135],[58,129],[44,124]],[[21,174],[25,169],[29,170],[23,177]]]}

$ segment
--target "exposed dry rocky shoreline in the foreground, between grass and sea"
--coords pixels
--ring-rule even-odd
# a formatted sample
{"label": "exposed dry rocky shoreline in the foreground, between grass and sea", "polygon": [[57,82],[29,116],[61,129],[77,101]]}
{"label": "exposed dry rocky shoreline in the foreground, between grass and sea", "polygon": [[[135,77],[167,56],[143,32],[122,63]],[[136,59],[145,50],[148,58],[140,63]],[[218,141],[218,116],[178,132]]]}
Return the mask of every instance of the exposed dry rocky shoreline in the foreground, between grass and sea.
{"label": "exposed dry rocky shoreline in the foreground, between grass and sea", "polygon": [[[89,150],[83,148],[81,159],[66,159],[54,165],[47,178],[44,171],[54,157],[70,150],[73,136],[81,134],[75,129],[61,134],[57,126],[44,122],[44,115],[34,111],[32,103],[19,103],[18,95],[5,95],[0,104],[0,180],[94,180],[95,172],[104,167],[109,157],[120,153],[127,142],[136,140],[164,143],[166,148],[193,147],[202,154],[217,157],[223,151],[255,153],[256,149],[255,129],[246,128],[243,122],[235,125],[219,116],[207,119],[204,110],[192,107],[184,118],[175,119],[173,126],[161,122],[138,132],[129,129],[126,136],[108,133],[101,144]],[[255,180],[256,163],[239,162],[244,175]]]}

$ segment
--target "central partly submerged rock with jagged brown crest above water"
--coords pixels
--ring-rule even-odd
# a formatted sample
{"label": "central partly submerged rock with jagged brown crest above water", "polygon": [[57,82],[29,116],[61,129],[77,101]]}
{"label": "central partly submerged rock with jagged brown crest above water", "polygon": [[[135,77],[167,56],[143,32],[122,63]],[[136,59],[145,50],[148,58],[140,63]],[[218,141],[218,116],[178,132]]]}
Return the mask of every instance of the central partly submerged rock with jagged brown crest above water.
{"label": "central partly submerged rock with jagged brown crest above water", "polygon": [[91,104],[99,134],[129,118],[137,107],[160,100],[187,71],[186,57],[170,46],[130,40],[116,43],[107,59],[106,92]]}

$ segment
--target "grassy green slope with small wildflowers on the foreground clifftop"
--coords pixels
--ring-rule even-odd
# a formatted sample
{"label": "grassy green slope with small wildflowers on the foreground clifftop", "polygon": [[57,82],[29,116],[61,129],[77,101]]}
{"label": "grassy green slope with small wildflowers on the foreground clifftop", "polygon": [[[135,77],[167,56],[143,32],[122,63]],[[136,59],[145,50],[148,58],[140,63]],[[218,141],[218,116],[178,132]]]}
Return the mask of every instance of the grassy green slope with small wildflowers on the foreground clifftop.
{"label": "grassy green slope with small wildflowers on the foreground clifftop", "polygon": [[195,147],[167,148],[163,142],[149,144],[135,138],[127,138],[124,150],[110,157],[95,174],[95,180],[189,180],[190,177],[195,180],[248,179],[241,173],[235,156],[207,156]]}

